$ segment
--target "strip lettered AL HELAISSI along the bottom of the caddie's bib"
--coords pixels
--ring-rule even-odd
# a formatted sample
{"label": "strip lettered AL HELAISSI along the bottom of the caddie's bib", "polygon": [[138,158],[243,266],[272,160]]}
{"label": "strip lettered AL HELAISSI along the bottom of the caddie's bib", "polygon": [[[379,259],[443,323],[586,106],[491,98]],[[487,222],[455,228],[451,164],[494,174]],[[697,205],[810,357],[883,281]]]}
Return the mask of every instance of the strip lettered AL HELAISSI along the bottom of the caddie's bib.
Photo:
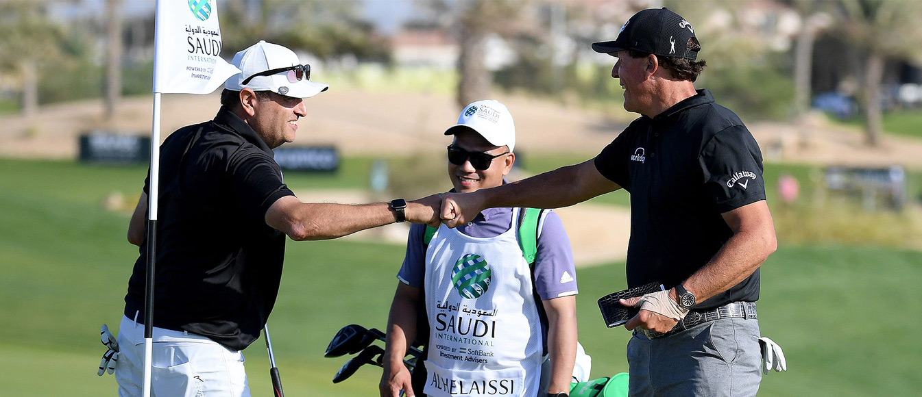
{"label": "strip lettered AL HELAISSI along the bottom of the caddie's bib", "polygon": [[426,360],[426,395],[431,397],[521,396],[525,391],[525,369],[446,369]]}

